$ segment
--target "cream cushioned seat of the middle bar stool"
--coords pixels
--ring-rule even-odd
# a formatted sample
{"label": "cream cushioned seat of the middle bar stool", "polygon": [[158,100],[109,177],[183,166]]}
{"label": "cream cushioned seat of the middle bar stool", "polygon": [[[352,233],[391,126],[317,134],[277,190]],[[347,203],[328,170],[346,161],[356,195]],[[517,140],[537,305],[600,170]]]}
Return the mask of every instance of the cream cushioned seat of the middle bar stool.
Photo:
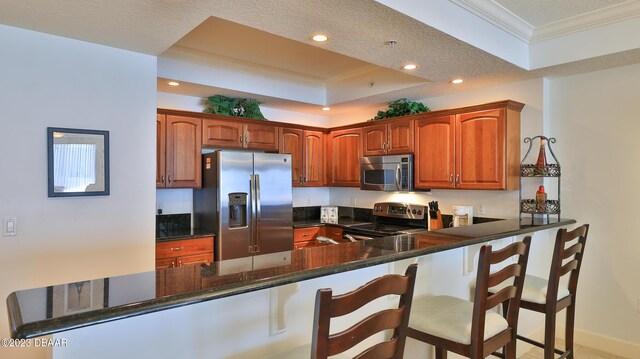
{"label": "cream cushioned seat of the middle bar stool", "polygon": [[[409,327],[421,332],[471,344],[473,303],[451,296],[423,297],[413,300]],[[498,313],[487,311],[484,338],[491,338],[507,329],[507,321]]]}

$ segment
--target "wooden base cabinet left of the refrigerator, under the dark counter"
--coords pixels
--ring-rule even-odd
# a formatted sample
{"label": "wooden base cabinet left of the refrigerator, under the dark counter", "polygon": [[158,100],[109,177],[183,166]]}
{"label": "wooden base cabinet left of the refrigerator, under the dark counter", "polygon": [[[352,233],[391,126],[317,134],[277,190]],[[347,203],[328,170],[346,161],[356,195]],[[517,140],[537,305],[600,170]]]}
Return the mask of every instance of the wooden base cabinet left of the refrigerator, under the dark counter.
{"label": "wooden base cabinet left of the refrigerator, under the dark counter", "polygon": [[212,262],[212,236],[156,243],[156,269]]}

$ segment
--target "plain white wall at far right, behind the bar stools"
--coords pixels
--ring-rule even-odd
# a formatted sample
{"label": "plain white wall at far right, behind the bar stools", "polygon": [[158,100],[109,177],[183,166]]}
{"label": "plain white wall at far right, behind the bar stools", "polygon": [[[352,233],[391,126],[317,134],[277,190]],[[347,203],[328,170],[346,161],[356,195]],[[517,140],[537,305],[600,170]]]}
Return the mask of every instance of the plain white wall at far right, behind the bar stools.
{"label": "plain white wall at far right, behind the bar stools", "polygon": [[[640,349],[640,65],[555,79],[549,87],[563,212],[591,224],[576,326]],[[629,357],[640,350],[635,354]]]}

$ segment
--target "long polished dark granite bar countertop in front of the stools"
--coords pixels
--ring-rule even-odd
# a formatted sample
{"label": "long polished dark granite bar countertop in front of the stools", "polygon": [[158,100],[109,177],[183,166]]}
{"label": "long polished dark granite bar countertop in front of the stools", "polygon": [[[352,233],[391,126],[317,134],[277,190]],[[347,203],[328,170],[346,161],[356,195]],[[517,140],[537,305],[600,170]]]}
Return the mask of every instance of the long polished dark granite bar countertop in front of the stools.
{"label": "long polished dark granite bar countertop in front of the stools", "polygon": [[7,298],[11,335],[39,337],[573,223],[504,220],[21,290]]}

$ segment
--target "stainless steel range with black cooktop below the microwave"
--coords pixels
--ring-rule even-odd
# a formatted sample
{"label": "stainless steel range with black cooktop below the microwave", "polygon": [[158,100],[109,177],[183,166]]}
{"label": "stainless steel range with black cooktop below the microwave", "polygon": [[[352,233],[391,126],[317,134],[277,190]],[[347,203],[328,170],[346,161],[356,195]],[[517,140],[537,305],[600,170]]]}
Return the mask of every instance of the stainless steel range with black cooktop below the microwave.
{"label": "stainless steel range with black cooktop below the microwave", "polygon": [[374,204],[373,215],[373,223],[349,226],[344,236],[364,240],[427,230],[428,208],[424,205],[381,202]]}

